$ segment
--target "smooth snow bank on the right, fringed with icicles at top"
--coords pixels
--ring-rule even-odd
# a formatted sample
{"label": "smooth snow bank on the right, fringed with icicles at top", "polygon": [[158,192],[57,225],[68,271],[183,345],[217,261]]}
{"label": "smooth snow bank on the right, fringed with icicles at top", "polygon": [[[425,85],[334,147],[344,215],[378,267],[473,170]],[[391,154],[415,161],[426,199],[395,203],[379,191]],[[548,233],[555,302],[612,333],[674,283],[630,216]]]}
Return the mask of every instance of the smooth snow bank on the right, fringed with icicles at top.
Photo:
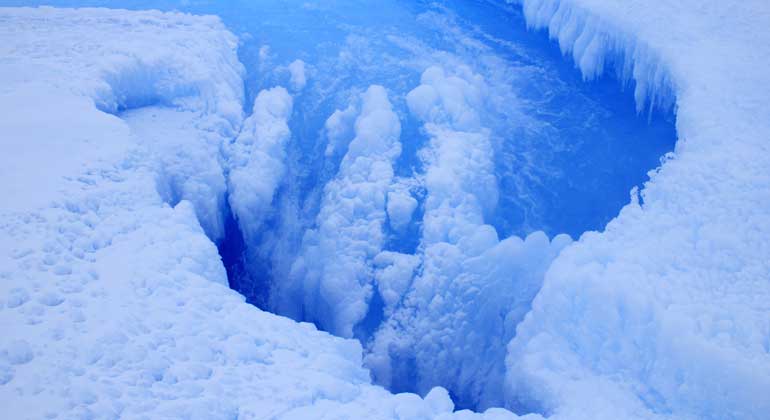
{"label": "smooth snow bank on the right, fringed with icicles at top", "polygon": [[641,197],[554,261],[509,345],[509,404],[554,418],[767,417],[768,3],[523,6],[586,77],[612,62],[640,105],[673,92],[679,142]]}

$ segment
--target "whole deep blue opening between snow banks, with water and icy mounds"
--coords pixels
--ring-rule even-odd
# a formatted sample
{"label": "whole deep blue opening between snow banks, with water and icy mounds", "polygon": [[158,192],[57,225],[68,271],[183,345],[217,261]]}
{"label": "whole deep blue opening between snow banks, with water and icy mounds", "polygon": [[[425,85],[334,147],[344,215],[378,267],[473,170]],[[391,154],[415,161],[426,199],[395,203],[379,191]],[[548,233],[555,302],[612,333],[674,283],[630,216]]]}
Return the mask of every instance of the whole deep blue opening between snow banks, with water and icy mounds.
{"label": "whole deep blue opening between snow banks, with water and icy mounds", "polygon": [[[557,235],[603,230],[676,139],[671,110],[637,114],[633,89],[611,71],[585,82],[518,7],[498,2],[45,3],[220,16],[241,40],[244,108],[275,86],[293,100],[264,223],[247,237],[250,215],[223,199],[230,287],[359,339],[391,391],[441,385],[458,408],[505,404],[505,346],[566,246]],[[371,85],[390,111],[367,96]],[[350,164],[352,142],[371,134],[367,108],[399,123],[398,156],[358,156],[390,168],[384,186]]]}

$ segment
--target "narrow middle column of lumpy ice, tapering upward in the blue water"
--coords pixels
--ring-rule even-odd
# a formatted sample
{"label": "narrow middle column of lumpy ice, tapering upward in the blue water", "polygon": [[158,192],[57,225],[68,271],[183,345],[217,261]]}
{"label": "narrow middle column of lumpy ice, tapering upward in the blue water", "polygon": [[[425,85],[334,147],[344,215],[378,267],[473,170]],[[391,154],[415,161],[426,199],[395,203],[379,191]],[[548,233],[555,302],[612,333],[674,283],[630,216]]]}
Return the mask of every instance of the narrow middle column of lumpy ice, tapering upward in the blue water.
{"label": "narrow middle column of lumpy ice, tapering upward in the blue water", "polygon": [[361,113],[334,180],[324,188],[317,229],[306,232],[291,283],[304,319],[343,337],[367,313],[371,260],[382,249],[386,194],[401,154],[401,123],[381,86],[361,98]]}

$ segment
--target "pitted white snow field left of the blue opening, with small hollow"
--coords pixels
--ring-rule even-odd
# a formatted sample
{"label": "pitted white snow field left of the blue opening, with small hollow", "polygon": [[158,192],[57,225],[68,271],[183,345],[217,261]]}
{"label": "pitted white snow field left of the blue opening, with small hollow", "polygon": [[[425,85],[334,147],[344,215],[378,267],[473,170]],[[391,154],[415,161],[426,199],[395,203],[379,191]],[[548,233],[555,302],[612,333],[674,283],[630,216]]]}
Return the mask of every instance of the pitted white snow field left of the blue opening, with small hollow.
{"label": "pitted white snow field left of the blue opening, with small hollow", "polygon": [[0,9],[3,416],[481,417],[372,386],[357,341],[227,287],[195,188],[221,173],[181,149],[235,137],[235,45],[212,17]]}

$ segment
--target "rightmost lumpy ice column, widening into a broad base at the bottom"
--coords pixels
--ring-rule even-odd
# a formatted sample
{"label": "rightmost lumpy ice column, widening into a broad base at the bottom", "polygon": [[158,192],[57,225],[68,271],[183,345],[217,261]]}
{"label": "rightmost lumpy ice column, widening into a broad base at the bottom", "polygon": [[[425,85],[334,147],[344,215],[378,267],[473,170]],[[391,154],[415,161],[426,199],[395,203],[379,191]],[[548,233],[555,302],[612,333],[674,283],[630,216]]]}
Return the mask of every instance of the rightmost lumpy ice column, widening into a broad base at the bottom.
{"label": "rightmost lumpy ice column, widening into a broad base at the bottom", "polygon": [[410,275],[414,263],[395,260],[383,273],[392,285],[381,292],[385,303],[403,303],[366,358],[379,383],[421,393],[442,384],[461,404],[481,408],[502,404],[505,345],[546,268],[570,242],[563,235],[551,242],[542,232],[499,241],[484,223],[497,201],[489,132],[477,113],[486,90],[467,68],[447,74],[431,67],[407,95],[430,136],[421,153],[422,270],[408,289],[401,273]]}

